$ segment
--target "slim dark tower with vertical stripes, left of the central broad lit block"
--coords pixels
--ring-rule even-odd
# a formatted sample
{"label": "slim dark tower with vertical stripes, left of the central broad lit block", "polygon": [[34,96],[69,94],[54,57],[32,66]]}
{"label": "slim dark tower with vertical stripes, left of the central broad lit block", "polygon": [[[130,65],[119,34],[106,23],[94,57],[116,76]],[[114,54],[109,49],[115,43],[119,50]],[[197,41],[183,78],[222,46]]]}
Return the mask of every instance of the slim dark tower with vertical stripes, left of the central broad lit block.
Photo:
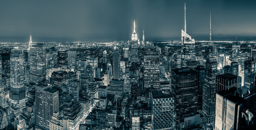
{"label": "slim dark tower with vertical stripes, left of the central broad lit block", "polygon": [[120,78],[120,55],[119,51],[115,50],[113,52],[113,79],[119,80]]}

